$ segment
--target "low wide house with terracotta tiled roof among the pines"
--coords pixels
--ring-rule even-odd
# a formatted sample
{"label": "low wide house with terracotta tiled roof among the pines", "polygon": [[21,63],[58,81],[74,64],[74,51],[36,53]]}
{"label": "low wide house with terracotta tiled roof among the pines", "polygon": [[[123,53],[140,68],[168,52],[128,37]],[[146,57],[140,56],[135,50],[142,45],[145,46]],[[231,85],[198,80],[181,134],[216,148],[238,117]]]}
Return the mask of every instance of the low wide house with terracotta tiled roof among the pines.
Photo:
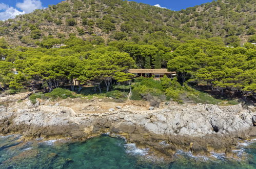
{"label": "low wide house with terracotta tiled roof among the pines", "polygon": [[136,75],[137,77],[153,77],[155,79],[164,77],[164,75],[169,78],[176,76],[176,72],[169,72],[167,69],[130,69],[128,72]]}

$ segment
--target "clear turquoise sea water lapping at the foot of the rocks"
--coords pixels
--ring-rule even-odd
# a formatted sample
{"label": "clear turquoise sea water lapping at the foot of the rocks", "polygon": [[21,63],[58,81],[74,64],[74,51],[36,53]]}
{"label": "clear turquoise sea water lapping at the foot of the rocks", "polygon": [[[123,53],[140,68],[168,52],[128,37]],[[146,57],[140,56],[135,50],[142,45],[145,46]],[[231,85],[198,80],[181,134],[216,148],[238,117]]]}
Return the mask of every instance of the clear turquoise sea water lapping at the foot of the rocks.
{"label": "clear turquoise sea water lapping at the foot of the rocks", "polygon": [[148,149],[103,135],[85,142],[62,140],[23,143],[21,136],[0,137],[0,168],[256,168],[256,143],[241,144],[240,159],[223,154],[192,156],[178,151],[166,163]]}

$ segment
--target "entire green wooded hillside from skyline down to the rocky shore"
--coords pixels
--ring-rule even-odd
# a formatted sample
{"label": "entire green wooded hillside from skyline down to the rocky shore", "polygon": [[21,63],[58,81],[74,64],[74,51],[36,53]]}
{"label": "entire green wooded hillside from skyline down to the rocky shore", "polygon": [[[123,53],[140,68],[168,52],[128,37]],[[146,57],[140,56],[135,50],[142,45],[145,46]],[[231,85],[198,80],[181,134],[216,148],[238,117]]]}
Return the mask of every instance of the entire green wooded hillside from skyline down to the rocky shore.
{"label": "entire green wooded hillside from skyline down to the rocky shore", "polygon": [[[0,22],[0,91],[46,93],[64,86],[74,91],[77,79],[113,98],[126,95],[115,89],[127,91],[132,81],[134,100],[200,102],[202,93],[195,89],[202,86],[219,96],[228,91],[255,99],[255,10],[255,1],[246,0],[181,11],[69,0],[35,10]],[[65,46],[53,48],[56,44]],[[130,68],[167,68],[177,76],[134,80]],[[83,92],[82,86],[76,92]]]}

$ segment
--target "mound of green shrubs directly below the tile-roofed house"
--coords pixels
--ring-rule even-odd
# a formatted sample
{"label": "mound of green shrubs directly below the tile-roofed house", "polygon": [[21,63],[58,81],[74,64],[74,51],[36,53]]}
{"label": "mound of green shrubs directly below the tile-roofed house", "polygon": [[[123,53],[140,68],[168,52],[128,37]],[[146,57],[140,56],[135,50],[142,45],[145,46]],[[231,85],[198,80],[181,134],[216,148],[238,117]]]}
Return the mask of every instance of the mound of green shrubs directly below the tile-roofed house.
{"label": "mound of green shrubs directly below the tile-roofed house", "polygon": [[[204,103],[219,104],[221,100],[215,99],[207,93],[197,91],[187,85],[181,86],[176,78],[169,79],[166,76],[161,81],[150,78],[137,79],[132,89],[132,100],[173,100],[179,103]],[[154,99],[153,99],[154,98]],[[150,100],[153,99],[153,100]]]}

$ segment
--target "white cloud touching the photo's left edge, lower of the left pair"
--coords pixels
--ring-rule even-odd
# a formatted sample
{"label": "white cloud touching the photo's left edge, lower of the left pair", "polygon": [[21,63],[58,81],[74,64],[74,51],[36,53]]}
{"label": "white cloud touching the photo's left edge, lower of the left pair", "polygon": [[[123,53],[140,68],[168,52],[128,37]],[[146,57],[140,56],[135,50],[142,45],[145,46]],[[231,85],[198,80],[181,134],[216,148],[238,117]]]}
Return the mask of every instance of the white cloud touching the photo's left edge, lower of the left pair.
{"label": "white cloud touching the photo's left edge, lower of the left pair", "polygon": [[9,5],[0,4],[0,20],[6,20],[9,18],[14,18],[16,15],[25,14],[25,12],[18,11],[17,9],[13,7],[9,7]]}

